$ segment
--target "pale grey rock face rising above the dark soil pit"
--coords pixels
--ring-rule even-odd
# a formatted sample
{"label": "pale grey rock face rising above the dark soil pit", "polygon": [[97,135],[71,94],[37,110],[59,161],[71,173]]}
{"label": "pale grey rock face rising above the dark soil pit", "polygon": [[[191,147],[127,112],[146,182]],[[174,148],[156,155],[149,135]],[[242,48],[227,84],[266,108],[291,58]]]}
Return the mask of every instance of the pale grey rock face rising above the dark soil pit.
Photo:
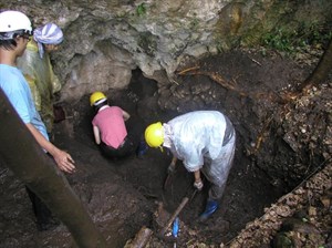
{"label": "pale grey rock face rising above the dark soil pit", "polygon": [[63,29],[55,72],[64,84],[62,100],[77,100],[95,90],[126,87],[135,68],[158,82],[156,74],[172,80],[185,58],[255,43],[287,14],[294,19],[292,28],[313,16],[323,23],[331,4],[317,2],[1,0],[0,8],[25,12],[35,27],[55,22]]}

